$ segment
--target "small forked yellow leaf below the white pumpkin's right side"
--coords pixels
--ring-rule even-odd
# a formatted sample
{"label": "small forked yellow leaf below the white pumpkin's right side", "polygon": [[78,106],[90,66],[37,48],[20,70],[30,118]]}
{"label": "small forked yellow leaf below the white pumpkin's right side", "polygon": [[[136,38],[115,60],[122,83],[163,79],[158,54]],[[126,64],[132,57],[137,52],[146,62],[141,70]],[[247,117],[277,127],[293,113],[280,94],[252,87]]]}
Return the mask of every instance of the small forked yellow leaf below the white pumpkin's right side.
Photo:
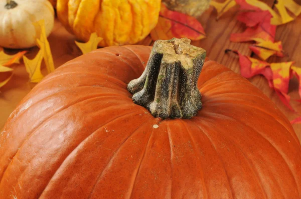
{"label": "small forked yellow leaf below the white pumpkin's right side", "polygon": [[43,56],[43,48],[39,50],[39,52],[33,59],[29,59],[26,56],[23,56],[24,65],[26,71],[29,73],[29,78],[31,82],[37,83],[41,81],[41,79],[44,77],[41,72],[41,63],[43,60]]}

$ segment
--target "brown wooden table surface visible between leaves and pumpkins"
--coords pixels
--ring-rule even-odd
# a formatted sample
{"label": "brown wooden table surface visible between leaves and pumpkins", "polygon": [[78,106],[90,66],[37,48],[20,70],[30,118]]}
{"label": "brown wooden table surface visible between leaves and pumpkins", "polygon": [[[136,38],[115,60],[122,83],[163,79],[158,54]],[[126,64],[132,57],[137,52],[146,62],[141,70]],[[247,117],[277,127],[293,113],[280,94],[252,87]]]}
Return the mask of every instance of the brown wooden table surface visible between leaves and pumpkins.
{"label": "brown wooden table surface visible between leaves and pumpkins", "polygon": [[[263,1],[271,7],[273,6],[273,0]],[[296,0],[296,2],[301,4],[301,0]],[[225,54],[224,50],[227,48],[237,49],[245,55],[253,56],[248,48],[250,43],[233,43],[229,41],[231,33],[242,32],[245,29],[245,26],[243,23],[236,20],[236,16],[238,14],[237,7],[229,10],[218,21],[215,19],[216,14],[216,10],[211,7],[198,18],[207,33],[207,38],[199,41],[193,41],[192,44],[205,48],[210,59],[216,60],[239,73],[238,58]],[[300,27],[301,15],[292,22],[277,26],[276,41],[282,41],[283,49],[288,52],[289,56],[284,58],[270,57],[267,60],[268,62],[294,60],[295,65],[301,67],[301,56],[299,56],[299,53],[301,52]],[[55,21],[53,31],[48,39],[56,67],[76,56],[81,55],[80,50],[74,43],[74,36],[69,34],[58,20]],[[152,39],[148,36],[138,44],[151,45],[152,43]],[[29,58],[33,58],[37,51],[37,47],[31,48],[27,56]],[[28,74],[26,73],[25,66],[23,64],[14,65],[12,67],[15,69],[14,76],[0,89],[0,129],[4,126],[6,119],[15,109],[19,101],[35,85],[34,83],[28,82]],[[46,73],[45,65],[42,65],[42,67],[42,71]],[[282,104],[276,93],[268,86],[267,81],[262,76],[257,75],[249,80],[259,87],[268,97],[270,97],[289,120],[298,116],[298,114],[293,113]],[[289,95],[292,99],[299,99],[298,82],[296,78],[291,80]],[[301,103],[292,100],[291,104],[293,108],[295,108],[298,112],[301,112]],[[293,127],[299,140],[301,140],[301,124],[293,124]]]}

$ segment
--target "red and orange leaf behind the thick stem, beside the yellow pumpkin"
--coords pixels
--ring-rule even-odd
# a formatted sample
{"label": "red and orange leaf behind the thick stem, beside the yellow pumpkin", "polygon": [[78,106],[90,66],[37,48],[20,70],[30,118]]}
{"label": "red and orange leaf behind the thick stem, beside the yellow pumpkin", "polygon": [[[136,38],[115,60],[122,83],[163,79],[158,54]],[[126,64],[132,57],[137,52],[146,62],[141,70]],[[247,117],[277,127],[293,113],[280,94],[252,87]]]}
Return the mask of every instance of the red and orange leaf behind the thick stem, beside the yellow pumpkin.
{"label": "red and orange leaf behind the thick stem, beside the yellow pumpkin", "polygon": [[187,37],[200,40],[206,37],[202,24],[193,16],[169,10],[163,3],[156,27],[150,31],[153,40]]}

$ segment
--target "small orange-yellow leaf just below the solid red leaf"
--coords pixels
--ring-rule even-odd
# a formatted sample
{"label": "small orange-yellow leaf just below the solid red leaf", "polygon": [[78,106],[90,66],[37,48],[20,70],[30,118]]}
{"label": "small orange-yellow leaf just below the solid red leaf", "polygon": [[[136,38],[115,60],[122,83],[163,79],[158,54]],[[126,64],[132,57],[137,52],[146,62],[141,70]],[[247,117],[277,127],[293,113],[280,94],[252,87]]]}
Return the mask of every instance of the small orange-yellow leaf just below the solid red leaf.
{"label": "small orange-yellow leaf just below the solid red leaf", "polygon": [[284,56],[281,41],[275,43],[272,41],[262,41],[250,45],[249,48],[263,60],[266,60],[271,55],[276,55],[279,57]]}

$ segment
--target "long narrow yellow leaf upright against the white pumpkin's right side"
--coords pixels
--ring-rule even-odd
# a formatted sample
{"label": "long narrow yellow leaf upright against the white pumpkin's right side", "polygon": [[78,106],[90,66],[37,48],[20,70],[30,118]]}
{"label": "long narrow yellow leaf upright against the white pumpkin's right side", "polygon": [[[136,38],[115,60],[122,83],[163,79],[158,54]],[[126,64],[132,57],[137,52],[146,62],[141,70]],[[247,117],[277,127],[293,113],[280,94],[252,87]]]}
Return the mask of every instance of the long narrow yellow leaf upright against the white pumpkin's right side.
{"label": "long narrow yellow leaf upright against the white pumpkin's right side", "polygon": [[37,38],[37,44],[41,49],[43,49],[42,50],[43,58],[44,58],[44,61],[46,64],[47,71],[48,71],[48,73],[50,73],[50,72],[54,71],[55,67],[54,67],[54,63],[53,63],[53,57],[51,54],[50,45],[49,45],[49,42],[48,42],[47,36],[46,36],[45,21],[44,21],[44,19],[42,19],[37,22],[34,22],[33,24],[36,28],[37,37],[38,37],[38,35],[40,35],[40,37]]}

